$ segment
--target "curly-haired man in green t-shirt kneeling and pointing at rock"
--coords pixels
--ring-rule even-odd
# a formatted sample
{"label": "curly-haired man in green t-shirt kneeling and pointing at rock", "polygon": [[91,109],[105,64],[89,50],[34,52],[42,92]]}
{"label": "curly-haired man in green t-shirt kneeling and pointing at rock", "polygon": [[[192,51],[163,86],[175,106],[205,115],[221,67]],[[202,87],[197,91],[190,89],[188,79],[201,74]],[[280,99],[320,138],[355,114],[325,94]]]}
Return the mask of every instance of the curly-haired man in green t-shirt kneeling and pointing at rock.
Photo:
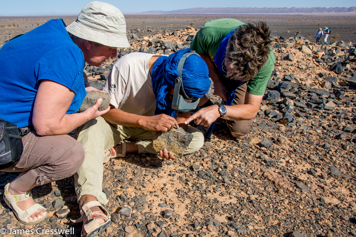
{"label": "curly-haired man in green t-shirt kneeling and pointing at rock", "polygon": [[199,104],[206,103],[186,124],[195,120],[208,126],[221,117],[235,138],[248,134],[275,63],[270,33],[265,22],[245,24],[225,18],[204,24],[190,48],[208,65],[214,94],[226,101],[226,107],[201,98]]}

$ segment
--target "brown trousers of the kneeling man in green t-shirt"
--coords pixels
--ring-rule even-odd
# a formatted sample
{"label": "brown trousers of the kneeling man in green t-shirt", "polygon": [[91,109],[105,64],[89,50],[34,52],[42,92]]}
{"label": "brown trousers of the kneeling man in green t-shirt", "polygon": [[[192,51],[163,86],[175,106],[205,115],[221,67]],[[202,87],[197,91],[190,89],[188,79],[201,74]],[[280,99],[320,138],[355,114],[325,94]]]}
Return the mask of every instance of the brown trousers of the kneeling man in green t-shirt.
{"label": "brown trousers of the kneeling man in green t-shirt", "polygon": [[[247,83],[242,84],[239,88],[236,89],[236,91],[234,92],[235,99],[232,102],[232,105],[245,103],[246,90]],[[226,123],[230,131],[232,131],[233,133],[247,135],[252,128],[253,119],[239,121],[226,120]]]}

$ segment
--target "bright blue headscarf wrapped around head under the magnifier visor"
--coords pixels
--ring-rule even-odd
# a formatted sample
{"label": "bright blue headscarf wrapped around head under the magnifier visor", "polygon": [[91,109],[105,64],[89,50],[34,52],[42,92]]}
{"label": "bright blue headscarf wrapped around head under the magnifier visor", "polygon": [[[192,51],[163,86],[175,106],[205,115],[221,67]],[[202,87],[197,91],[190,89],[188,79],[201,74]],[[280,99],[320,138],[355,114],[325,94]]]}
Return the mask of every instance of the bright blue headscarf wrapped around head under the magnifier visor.
{"label": "bright blue headscarf wrapped around head under the magnifier visor", "polygon": [[[169,90],[174,88],[175,80],[179,76],[177,71],[179,60],[190,49],[180,49],[178,52],[159,57],[152,68],[152,87],[155,93],[157,107],[155,115],[167,114],[176,116],[177,110],[172,109],[172,101],[166,101]],[[182,82],[185,93],[192,98],[200,98],[209,91],[208,66],[198,55],[190,55],[184,61],[182,69]]]}

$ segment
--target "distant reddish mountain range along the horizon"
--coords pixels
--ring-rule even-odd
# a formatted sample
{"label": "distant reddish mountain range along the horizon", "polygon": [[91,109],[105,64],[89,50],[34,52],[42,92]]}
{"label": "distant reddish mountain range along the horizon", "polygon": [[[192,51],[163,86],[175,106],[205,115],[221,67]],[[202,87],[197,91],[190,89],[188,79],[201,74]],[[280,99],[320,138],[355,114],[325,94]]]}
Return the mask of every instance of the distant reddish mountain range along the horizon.
{"label": "distant reddish mountain range along the horizon", "polygon": [[195,7],[173,11],[145,11],[163,14],[320,14],[356,12],[356,7]]}

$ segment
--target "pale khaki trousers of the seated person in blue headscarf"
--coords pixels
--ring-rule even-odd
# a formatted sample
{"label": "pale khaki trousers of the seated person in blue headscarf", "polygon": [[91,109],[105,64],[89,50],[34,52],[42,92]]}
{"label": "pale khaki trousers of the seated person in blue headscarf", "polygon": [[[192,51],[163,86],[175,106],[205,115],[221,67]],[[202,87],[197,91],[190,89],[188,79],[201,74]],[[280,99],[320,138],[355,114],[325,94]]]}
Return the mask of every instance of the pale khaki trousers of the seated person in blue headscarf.
{"label": "pale khaki trousers of the seated person in blue headscarf", "polygon": [[[204,135],[196,128],[188,126],[188,133],[193,134],[184,155],[199,150],[204,145]],[[108,123],[103,117],[92,119],[77,129],[75,138],[83,145],[85,158],[75,178],[75,192],[77,199],[83,195],[93,195],[101,204],[108,203],[103,193],[103,162],[105,152],[123,140],[136,141],[138,153],[152,153],[158,155],[153,149],[151,131],[141,127],[127,127]]]}

